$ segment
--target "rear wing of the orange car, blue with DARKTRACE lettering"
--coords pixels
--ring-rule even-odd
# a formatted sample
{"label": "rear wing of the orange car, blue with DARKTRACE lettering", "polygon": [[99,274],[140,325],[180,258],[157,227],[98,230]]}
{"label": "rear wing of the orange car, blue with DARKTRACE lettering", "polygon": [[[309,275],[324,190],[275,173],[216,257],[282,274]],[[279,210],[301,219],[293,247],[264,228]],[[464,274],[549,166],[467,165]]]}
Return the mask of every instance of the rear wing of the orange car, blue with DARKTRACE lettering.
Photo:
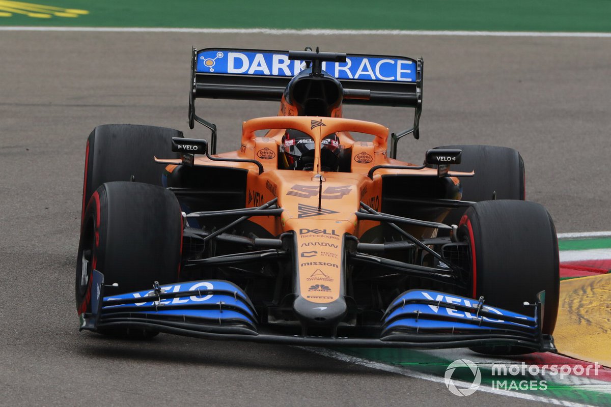
{"label": "rear wing of the orange car, blue with DARKTRACE lettering", "polygon": [[[343,103],[370,106],[412,107],[414,126],[392,134],[397,140],[413,133],[419,139],[422,112],[422,59],[364,54],[261,49],[193,49],[189,127],[198,121],[216,132],[211,123],[197,117],[195,100],[242,99],[280,101],[288,82],[306,66],[320,67],[341,82]],[[216,143],[214,143],[216,144]],[[392,154],[392,153],[391,153]]]}

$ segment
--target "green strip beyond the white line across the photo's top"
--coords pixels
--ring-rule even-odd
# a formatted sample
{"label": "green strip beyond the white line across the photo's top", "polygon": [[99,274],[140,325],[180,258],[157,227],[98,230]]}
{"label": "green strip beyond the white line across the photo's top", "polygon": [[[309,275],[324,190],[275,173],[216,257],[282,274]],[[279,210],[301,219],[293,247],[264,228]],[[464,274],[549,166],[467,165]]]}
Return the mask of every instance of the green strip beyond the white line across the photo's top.
{"label": "green strip beyond the white line across the photo's top", "polygon": [[[210,27],[611,32],[609,0],[38,0],[76,18],[0,16],[10,26]],[[22,3],[26,4],[26,3]],[[0,15],[6,15],[0,0]]]}

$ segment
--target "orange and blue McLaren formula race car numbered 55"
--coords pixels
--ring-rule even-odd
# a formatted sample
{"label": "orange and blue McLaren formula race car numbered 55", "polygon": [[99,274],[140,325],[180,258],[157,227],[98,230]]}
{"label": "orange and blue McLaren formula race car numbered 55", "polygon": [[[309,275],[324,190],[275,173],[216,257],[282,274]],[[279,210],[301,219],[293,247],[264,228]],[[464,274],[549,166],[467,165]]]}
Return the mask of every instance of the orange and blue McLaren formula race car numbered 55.
{"label": "orange and blue McLaren formula race car numbered 55", "polygon": [[[189,125],[98,126],[86,148],[81,330],[357,347],[555,350],[558,244],[514,149],[419,138],[422,59],[193,49]],[[217,153],[196,99],[279,101]],[[414,109],[413,126],[343,104]],[[450,168],[452,167],[452,168]]]}

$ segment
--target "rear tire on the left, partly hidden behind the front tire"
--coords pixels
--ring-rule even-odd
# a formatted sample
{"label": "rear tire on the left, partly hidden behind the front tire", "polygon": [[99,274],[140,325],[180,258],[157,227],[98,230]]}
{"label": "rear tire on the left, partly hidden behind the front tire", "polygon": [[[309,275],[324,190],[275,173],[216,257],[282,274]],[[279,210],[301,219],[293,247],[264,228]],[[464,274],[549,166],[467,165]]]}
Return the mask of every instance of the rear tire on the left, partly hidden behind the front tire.
{"label": "rear tire on the left, partly hidden behind the front tire", "polygon": [[139,124],[104,124],[93,129],[85,151],[81,222],[91,195],[104,182],[161,185],[165,166],[153,157],[180,157],[172,152],[172,137],[183,137],[183,132]]}

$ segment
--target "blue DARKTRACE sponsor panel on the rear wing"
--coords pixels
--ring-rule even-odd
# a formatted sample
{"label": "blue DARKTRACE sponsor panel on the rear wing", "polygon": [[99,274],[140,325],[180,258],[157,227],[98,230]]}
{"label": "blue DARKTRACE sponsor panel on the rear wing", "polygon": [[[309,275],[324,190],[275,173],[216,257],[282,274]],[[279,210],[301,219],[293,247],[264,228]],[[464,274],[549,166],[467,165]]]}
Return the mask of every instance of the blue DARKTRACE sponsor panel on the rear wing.
{"label": "blue DARKTRACE sponsor panel on the rear wing", "polygon": [[[414,60],[401,57],[348,55],[346,62],[322,63],[323,71],[337,79],[415,82]],[[257,76],[295,76],[305,63],[289,60],[286,51],[202,49],[197,52],[197,72]]]}

